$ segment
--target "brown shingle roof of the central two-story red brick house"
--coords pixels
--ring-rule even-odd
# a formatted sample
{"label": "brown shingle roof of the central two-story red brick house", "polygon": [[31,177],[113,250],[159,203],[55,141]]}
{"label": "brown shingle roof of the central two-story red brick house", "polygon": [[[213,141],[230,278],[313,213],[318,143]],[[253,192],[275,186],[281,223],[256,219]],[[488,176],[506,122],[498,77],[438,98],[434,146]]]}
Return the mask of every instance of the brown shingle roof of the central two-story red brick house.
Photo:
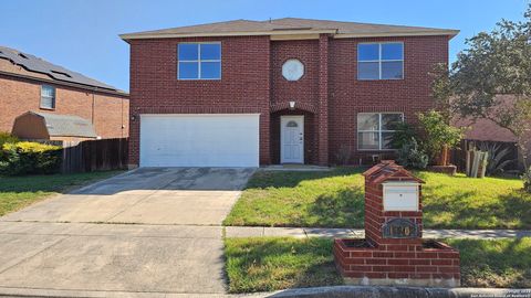
{"label": "brown shingle roof of the central two-story red brick house", "polygon": [[387,25],[284,18],[269,21],[233,20],[218,23],[122,34],[123,40],[164,39],[186,36],[289,35],[329,33],[335,38],[448,35],[459,31],[424,26]]}

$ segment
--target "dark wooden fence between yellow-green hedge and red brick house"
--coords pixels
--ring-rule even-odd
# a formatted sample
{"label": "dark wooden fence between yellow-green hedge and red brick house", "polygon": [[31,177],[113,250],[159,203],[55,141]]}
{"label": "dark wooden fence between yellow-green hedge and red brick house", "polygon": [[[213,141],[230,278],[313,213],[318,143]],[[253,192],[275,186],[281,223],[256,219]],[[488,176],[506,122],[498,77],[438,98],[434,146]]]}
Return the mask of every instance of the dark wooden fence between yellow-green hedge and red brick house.
{"label": "dark wooden fence between yellow-green hedge and red brick house", "polygon": [[61,172],[92,172],[127,167],[127,138],[86,140],[74,146],[63,143]]}

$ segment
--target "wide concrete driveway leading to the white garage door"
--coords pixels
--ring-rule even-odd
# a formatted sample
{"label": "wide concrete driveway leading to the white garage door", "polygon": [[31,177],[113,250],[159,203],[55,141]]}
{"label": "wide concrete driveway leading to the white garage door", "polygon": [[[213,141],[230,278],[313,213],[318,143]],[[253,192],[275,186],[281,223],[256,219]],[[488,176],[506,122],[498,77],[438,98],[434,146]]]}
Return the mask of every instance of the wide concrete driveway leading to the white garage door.
{"label": "wide concrete driveway leading to the white garage door", "polygon": [[0,296],[223,295],[252,169],[138,169],[0,217]]}

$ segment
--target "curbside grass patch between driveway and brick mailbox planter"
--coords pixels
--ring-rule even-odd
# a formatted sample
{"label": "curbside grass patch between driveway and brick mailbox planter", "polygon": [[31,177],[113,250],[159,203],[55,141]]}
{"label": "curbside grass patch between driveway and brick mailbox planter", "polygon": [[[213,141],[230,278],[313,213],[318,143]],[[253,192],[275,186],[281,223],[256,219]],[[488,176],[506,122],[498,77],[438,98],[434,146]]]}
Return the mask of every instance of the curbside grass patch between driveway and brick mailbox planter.
{"label": "curbside grass patch between driveway and brick mailbox planter", "polygon": [[331,240],[225,240],[230,292],[341,285]]}

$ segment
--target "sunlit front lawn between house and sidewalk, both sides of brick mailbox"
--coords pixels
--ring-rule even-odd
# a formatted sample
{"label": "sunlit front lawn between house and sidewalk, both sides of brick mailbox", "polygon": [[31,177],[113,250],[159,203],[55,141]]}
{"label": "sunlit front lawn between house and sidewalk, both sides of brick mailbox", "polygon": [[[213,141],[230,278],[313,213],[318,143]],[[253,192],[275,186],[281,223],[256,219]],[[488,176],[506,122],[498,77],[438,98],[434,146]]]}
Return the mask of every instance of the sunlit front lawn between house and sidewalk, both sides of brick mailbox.
{"label": "sunlit front lawn between house and sidewalk, both sides of brick mailbox", "polygon": [[[226,225],[363,227],[362,169],[259,171]],[[472,179],[417,172],[424,219],[434,228],[531,228],[531,194],[518,179]]]}

